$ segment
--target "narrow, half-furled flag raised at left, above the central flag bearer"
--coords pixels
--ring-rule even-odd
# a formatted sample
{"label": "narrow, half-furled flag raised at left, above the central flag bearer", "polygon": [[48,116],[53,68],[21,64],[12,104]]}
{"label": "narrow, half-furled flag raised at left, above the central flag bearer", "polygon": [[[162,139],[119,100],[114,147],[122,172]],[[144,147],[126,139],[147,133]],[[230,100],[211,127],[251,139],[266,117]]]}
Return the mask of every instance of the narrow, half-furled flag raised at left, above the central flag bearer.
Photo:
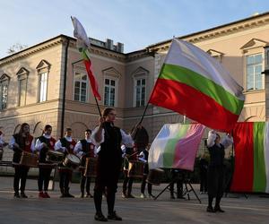
{"label": "narrow, half-furled flag raised at left, above the central flag bearer", "polygon": [[95,80],[95,77],[92,73],[91,68],[91,59],[89,53],[90,39],[87,36],[86,31],[84,30],[82,23],[79,22],[74,16],[71,17],[74,25],[74,37],[77,38],[77,47],[82,54],[83,63],[86,67],[88,77],[91,83],[91,90],[93,96],[100,100],[100,93],[98,91],[98,83]]}

